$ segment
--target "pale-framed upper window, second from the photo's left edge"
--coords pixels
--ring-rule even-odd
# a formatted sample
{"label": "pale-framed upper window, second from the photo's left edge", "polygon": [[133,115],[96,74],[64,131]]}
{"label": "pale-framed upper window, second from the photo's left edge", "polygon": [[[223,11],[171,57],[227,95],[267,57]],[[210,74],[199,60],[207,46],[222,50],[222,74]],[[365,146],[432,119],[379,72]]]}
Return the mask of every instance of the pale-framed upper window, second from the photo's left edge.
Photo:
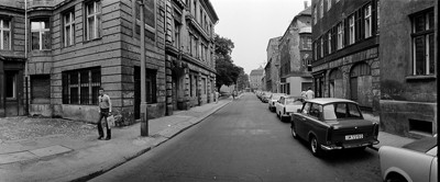
{"label": "pale-framed upper window, second from the photo's left edge", "polygon": [[32,49],[42,50],[51,48],[51,33],[50,33],[48,19],[32,20],[31,34],[32,34]]}

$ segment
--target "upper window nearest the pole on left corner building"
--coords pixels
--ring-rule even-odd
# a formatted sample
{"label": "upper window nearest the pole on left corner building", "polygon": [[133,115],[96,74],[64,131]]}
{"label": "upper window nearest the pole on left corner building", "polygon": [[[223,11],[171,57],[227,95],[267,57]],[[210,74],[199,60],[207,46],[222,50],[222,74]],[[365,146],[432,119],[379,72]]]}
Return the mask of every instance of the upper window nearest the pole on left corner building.
{"label": "upper window nearest the pole on left corner building", "polygon": [[101,1],[92,1],[86,4],[86,39],[101,37]]}

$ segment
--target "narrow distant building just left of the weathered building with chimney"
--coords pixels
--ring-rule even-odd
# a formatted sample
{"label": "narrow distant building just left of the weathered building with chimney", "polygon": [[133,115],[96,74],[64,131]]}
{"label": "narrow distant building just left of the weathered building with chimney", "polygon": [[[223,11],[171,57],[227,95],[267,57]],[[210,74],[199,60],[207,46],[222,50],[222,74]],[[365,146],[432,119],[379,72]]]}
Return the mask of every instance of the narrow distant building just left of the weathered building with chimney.
{"label": "narrow distant building just left of the weathered building with chimney", "polygon": [[271,38],[267,44],[267,64],[264,67],[266,90],[270,92],[279,92],[279,39],[282,37]]}

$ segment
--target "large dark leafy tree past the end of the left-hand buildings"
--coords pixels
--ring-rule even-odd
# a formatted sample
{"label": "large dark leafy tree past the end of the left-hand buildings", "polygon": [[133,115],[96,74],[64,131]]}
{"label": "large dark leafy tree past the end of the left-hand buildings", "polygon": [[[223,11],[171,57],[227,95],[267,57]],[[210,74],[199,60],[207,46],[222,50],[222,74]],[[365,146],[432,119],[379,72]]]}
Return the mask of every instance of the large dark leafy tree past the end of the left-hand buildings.
{"label": "large dark leafy tree past the end of the left-hand buildings", "polygon": [[216,35],[216,87],[220,91],[221,86],[237,84],[237,79],[243,68],[235,66],[231,58],[234,44],[231,39]]}

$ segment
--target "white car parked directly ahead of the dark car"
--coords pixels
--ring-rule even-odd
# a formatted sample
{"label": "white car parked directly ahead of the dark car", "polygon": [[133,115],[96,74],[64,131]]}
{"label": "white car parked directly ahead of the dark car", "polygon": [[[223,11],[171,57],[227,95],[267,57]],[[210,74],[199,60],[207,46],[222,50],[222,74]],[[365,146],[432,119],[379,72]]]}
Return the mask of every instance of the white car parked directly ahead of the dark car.
{"label": "white car parked directly ahead of the dark car", "polygon": [[275,113],[283,121],[289,118],[290,115],[302,107],[304,99],[301,96],[283,95],[278,102],[275,103]]}

